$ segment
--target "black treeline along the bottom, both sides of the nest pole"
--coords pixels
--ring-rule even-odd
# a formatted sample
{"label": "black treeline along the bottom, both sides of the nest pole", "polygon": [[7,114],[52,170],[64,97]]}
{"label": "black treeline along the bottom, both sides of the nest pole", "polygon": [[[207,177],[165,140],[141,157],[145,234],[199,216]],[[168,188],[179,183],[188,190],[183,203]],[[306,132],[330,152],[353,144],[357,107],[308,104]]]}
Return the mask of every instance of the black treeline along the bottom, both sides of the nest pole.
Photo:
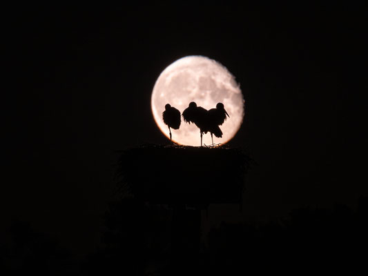
{"label": "black treeline along the bottom, both sides of the nest pole", "polygon": [[[16,221],[11,242],[0,247],[2,275],[180,275],[184,268],[170,266],[172,215],[168,206],[135,199],[110,204],[101,246],[78,262],[54,239]],[[367,197],[360,198],[356,210],[336,204],[298,208],[262,224],[222,222],[210,230],[195,267],[187,268],[191,275],[367,269],[367,233]]]}

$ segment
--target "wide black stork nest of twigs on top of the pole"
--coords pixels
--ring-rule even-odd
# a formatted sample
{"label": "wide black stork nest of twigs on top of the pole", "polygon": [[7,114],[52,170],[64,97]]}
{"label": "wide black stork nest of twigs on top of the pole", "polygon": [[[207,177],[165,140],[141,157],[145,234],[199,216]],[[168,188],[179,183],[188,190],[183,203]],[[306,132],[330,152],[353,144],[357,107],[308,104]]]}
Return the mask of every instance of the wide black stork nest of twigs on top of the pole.
{"label": "wide black stork nest of twigs on top of the pole", "polygon": [[160,204],[239,203],[253,159],[240,148],[146,144],[119,152],[117,188]]}

